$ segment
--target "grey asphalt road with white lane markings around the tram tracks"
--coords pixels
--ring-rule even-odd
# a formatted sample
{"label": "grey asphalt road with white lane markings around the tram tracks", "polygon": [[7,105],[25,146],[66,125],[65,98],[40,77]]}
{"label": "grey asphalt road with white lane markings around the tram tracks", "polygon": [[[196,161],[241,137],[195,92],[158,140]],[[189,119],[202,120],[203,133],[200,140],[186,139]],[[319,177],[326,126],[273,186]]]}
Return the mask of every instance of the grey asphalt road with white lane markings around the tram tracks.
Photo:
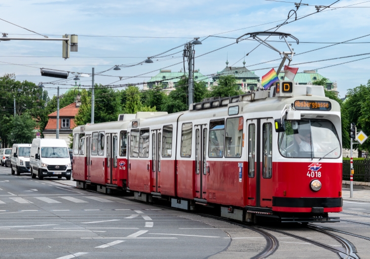
{"label": "grey asphalt road with white lane markings around the tram tracks", "polygon": [[[15,176],[0,167],[0,258],[252,258],[266,246],[259,233],[229,222],[70,183]],[[344,201],[343,213],[332,216],[343,221],[316,225],[370,239],[370,202]],[[332,237],[297,224],[268,227],[343,249]],[[267,232],[279,242],[269,258],[338,258],[310,242]],[[359,258],[370,258],[370,240],[332,233],[352,242]]]}

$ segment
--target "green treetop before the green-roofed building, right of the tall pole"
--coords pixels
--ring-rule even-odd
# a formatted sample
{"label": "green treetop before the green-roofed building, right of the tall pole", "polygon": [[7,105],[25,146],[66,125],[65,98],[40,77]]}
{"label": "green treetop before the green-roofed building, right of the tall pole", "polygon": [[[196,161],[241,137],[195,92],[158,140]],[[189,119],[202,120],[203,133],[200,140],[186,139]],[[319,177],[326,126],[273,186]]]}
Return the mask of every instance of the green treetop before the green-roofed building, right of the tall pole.
{"label": "green treetop before the green-roofed building, right of the tall pole", "polygon": [[212,87],[212,91],[209,92],[209,97],[229,97],[242,94],[239,90],[239,86],[236,84],[236,78],[234,75],[221,75],[218,80],[218,85]]}

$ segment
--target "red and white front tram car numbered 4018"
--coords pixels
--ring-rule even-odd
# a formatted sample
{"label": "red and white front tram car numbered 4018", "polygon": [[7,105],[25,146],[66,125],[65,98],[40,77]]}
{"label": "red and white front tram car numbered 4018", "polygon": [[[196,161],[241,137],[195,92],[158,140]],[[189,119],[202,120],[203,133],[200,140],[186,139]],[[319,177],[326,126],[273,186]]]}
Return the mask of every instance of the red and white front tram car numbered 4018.
{"label": "red and white front tram car numbered 4018", "polygon": [[322,86],[280,81],[133,120],[128,132],[128,185],[138,200],[217,205],[245,222],[338,222],[328,213],[342,211],[340,107]]}

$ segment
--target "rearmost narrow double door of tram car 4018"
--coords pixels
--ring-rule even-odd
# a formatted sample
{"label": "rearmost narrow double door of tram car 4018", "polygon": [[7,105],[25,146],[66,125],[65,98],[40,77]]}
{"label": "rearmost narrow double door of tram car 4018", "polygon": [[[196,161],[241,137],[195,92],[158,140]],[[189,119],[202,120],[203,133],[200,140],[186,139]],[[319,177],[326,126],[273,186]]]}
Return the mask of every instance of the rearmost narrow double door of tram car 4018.
{"label": "rearmost narrow double door of tram car 4018", "polygon": [[160,190],[160,172],[161,172],[161,141],[162,133],[160,129],[151,131],[151,186],[152,191],[161,192]]}

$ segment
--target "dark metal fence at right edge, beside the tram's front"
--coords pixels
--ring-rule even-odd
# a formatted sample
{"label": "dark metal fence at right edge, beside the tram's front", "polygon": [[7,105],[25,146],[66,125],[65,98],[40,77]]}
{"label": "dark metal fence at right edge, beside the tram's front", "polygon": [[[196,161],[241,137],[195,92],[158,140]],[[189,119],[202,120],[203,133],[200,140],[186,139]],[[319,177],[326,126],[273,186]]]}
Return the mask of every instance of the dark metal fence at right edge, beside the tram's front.
{"label": "dark metal fence at right edge, beside the tram's front", "polygon": [[[355,169],[353,181],[370,183],[370,160],[353,161]],[[343,180],[349,181],[351,174],[351,164],[349,160],[343,160]]]}

